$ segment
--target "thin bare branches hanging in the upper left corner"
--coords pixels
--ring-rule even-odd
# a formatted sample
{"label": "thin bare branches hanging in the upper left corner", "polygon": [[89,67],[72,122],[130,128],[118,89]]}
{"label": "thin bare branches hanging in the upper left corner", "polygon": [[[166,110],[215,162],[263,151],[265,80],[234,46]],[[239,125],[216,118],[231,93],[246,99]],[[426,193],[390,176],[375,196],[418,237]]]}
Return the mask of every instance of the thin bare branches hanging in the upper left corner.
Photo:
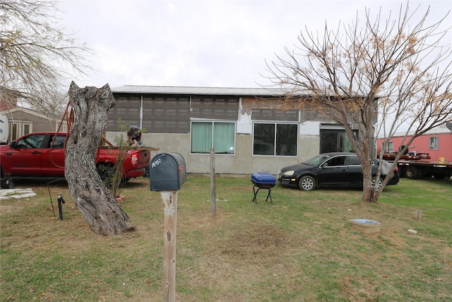
{"label": "thin bare branches hanging in the upper left corner", "polygon": [[64,91],[69,73],[90,69],[86,58],[92,51],[64,33],[58,13],[54,1],[0,0],[1,99],[39,108],[45,96]]}

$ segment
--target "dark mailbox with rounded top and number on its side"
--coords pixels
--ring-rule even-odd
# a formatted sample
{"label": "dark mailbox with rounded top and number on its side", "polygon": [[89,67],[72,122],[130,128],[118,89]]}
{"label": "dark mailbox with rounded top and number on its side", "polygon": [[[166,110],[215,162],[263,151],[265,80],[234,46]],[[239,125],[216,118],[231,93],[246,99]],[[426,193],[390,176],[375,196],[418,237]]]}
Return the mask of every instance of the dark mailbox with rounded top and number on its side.
{"label": "dark mailbox with rounded top and number on its side", "polygon": [[149,165],[151,191],[179,190],[186,181],[185,159],[179,153],[160,153]]}

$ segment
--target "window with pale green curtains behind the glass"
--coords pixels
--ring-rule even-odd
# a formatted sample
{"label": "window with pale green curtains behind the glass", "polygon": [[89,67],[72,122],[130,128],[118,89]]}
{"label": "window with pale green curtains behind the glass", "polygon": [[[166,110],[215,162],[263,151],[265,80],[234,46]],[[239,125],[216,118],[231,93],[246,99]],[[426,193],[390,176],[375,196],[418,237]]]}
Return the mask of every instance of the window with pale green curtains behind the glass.
{"label": "window with pale green curtains behind the glass", "polygon": [[234,154],[235,124],[233,122],[192,122],[191,153]]}

